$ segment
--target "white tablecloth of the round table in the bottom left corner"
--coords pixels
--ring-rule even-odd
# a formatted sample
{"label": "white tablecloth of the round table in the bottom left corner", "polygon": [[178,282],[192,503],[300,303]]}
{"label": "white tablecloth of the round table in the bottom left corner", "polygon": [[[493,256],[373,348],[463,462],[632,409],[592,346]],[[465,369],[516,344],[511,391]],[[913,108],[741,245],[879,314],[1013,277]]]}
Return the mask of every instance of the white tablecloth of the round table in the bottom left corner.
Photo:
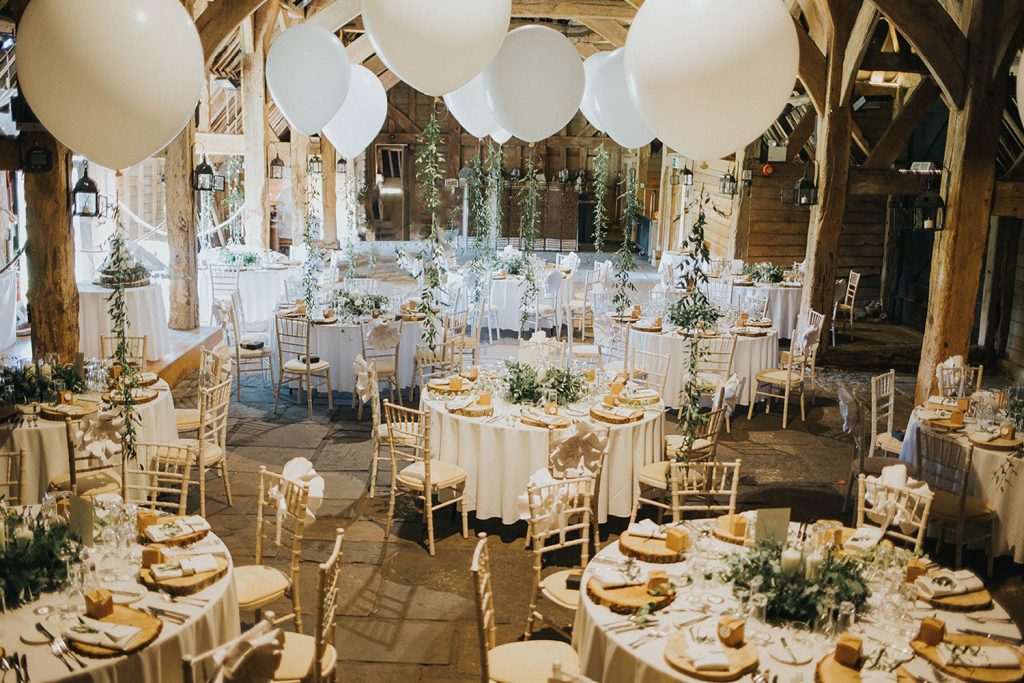
{"label": "white tablecloth of the round table in the bottom left corner", "polygon": [[[218,552],[228,558],[227,548],[213,532],[207,539],[219,548]],[[239,623],[239,601],[234,592],[233,567],[197,597],[207,600],[203,607],[185,602],[168,603],[162,594],[150,592],[131,606],[169,607],[190,615],[184,624],[164,620],[164,627],[153,643],[138,652],[108,659],[82,656],[86,669],[76,667],[74,674],[53,656],[47,644],[27,644],[20,640],[22,634],[37,635],[35,625],[43,622],[50,633],[57,635],[62,626],[59,622],[47,622],[45,617],[33,613],[39,603],[60,604],[56,596],[43,596],[35,603],[23,605],[5,616],[0,616],[3,627],[3,642],[9,651],[24,652],[28,656],[29,673],[33,683],[44,681],[74,680],[76,683],[147,683],[181,680],[181,657],[183,654],[199,654],[228,642],[241,633]],[[13,680],[11,677],[10,680]]]}

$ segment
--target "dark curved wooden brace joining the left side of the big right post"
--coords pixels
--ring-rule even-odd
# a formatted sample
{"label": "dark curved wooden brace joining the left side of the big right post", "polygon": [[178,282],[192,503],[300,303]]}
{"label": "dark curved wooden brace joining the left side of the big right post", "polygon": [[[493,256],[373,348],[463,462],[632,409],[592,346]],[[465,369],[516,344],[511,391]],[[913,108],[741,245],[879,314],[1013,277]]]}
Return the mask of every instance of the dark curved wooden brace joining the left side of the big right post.
{"label": "dark curved wooden brace joining the left side of the big right post", "polygon": [[962,109],[967,95],[967,38],[936,0],[869,0],[896,26],[928,66],[946,103]]}

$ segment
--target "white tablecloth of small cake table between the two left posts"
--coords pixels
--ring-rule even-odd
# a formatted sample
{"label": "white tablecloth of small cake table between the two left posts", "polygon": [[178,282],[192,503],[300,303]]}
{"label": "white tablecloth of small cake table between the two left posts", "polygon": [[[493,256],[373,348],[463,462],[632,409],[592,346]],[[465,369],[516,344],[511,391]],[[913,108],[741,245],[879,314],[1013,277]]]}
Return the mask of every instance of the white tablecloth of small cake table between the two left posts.
{"label": "white tablecloth of small cake table between the two left posts", "polygon": [[[91,283],[79,283],[79,348],[86,358],[100,356],[99,338],[111,334],[110,302],[114,290]],[[128,313],[128,335],[146,337],[146,360],[160,360],[171,352],[167,331],[167,309],[159,285],[132,287],[125,290]]]}

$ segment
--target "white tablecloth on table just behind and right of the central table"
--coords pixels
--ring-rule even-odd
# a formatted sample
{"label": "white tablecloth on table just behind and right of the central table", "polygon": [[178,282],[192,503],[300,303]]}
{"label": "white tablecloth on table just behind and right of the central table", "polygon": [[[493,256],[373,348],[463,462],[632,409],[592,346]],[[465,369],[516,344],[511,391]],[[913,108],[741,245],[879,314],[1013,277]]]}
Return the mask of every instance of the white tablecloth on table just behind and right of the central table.
{"label": "white tablecloth on table just behind and right of the central table", "polygon": [[[643,351],[653,351],[668,355],[669,377],[665,382],[665,404],[679,407],[679,392],[686,381],[689,342],[674,330],[666,328],[664,333],[633,332],[630,345]],[[754,397],[755,378],[758,372],[774,368],[778,360],[778,333],[771,330],[764,337],[738,337],[736,353],[732,358],[732,372],[739,378],[740,386],[736,402],[750,404]]]}

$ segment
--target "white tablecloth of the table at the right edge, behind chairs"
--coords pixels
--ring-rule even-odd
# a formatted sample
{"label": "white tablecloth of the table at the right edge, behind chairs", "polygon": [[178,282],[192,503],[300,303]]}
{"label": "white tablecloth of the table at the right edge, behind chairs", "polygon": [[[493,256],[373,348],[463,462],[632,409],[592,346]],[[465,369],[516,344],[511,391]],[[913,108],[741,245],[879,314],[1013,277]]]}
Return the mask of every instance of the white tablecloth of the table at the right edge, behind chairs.
{"label": "white tablecloth of the table at the right edge, behind chairs", "polygon": [[[913,463],[920,427],[916,414],[911,414],[899,454],[903,462]],[[953,437],[961,442],[969,442],[963,432],[953,434]],[[1005,481],[995,477],[1009,457],[1006,452],[987,451],[976,445],[971,461],[971,490],[968,493],[995,509],[998,518],[995,527],[996,554],[1009,554],[1015,562],[1024,562],[1024,496],[1021,495],[1024,493],[1024,462],[1016,463]]]}

